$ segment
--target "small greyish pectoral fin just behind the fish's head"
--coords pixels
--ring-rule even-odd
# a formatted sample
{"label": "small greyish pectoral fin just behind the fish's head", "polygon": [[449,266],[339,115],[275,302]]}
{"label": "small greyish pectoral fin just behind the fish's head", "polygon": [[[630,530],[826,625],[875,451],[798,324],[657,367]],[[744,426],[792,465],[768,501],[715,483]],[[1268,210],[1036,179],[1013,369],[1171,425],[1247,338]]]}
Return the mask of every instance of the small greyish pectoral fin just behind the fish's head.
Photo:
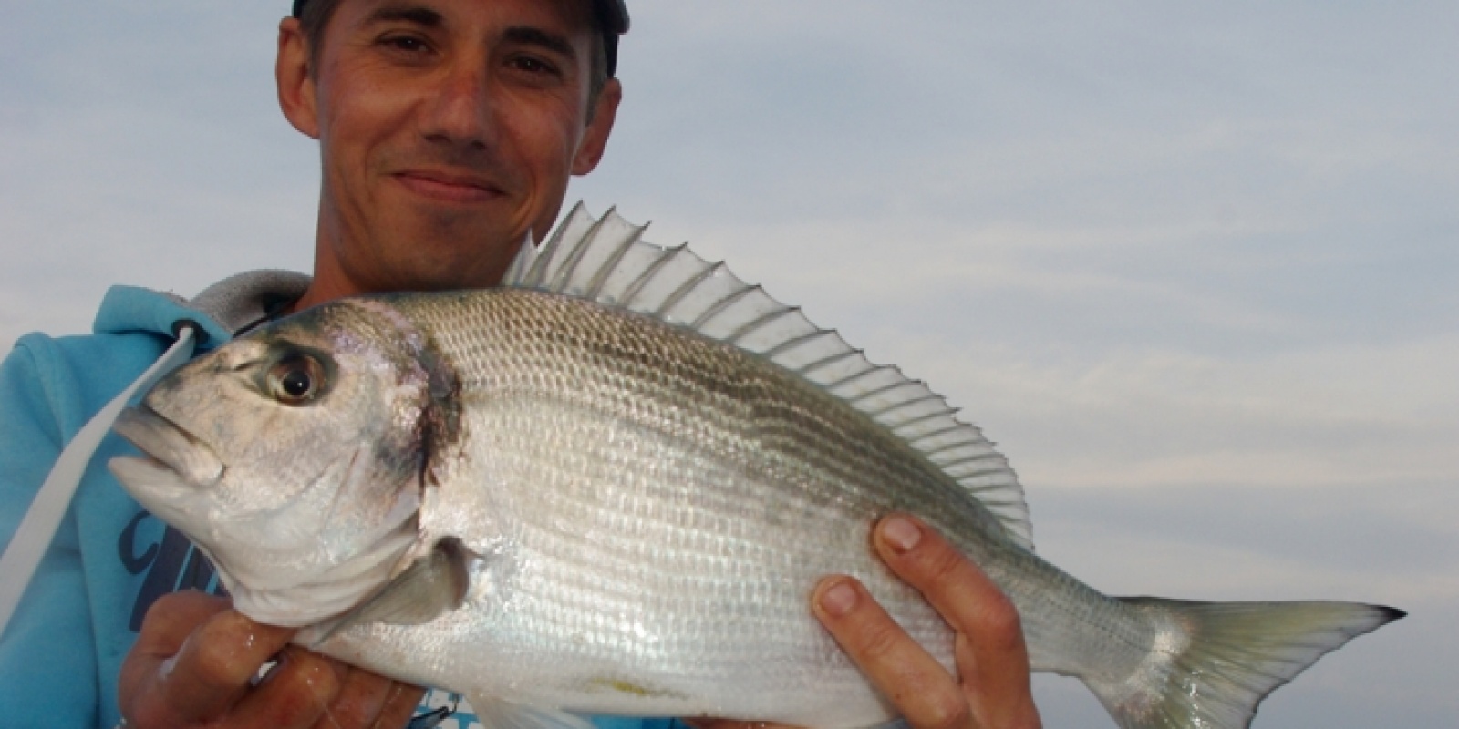
{"label": "small greyish pectoral fin just behind the fish's head", "polygon": [[460,539],[441,539],[430,554],[417,558],[406,572],[338,617],[312,643],[318,646],[349,627],[369,623],[420,625],[460,608],[470,585],[470,558]]}

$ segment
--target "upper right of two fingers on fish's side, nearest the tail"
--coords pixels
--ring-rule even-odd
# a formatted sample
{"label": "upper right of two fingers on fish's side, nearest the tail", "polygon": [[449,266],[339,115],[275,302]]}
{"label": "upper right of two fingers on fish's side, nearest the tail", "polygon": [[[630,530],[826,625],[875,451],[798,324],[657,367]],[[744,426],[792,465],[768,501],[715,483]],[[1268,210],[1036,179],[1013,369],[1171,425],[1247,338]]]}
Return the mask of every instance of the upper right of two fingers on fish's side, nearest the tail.
{"label": "upper right of two fingers on fish's side, nearest the tail", "polygon": [[1029,725],[1024,719],[1037,714],[1029,690],[1029,652],[1018,611],[998,583],[912,516],[883,519],[874,542],[883,561],[957,631],[960,678],[978,717],[989,726]]}

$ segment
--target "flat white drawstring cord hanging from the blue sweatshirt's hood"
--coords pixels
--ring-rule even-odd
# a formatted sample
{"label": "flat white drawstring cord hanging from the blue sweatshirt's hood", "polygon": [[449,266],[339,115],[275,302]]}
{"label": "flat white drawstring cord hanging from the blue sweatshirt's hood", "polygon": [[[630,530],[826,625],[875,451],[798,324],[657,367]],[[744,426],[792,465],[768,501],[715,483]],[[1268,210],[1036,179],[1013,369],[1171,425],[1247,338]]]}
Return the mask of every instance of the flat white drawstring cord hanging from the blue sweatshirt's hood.
{"label": "flat white drawstring cord hanging from the blue sweatshirt's hood", "polygon": [[25,512],[25,519],[10,538],[4,555],[0,557],[0,636],[4,634],[10,617],[15,614],[25,588],[35,576],[35,569],[41,564],[41,557],[51,547],[55,531],[61,526],[61,519],[76,496],[76,487],[82,483],[86,464],[101,448],[101,440],[107,437],[112,423],[121,416],[121,410],[140,389],[152,386],[162,375],[166,375],[178,364],[193,357],[194,340],[197,338],[197,324],[179,322],[178,341],[168,348],[143,372],[136,382],[121,391],[107,407],[101,408],[90,421],[86,423],[71,439],[61,456],[55,459],[51,475],[35,493],[31,507]]}

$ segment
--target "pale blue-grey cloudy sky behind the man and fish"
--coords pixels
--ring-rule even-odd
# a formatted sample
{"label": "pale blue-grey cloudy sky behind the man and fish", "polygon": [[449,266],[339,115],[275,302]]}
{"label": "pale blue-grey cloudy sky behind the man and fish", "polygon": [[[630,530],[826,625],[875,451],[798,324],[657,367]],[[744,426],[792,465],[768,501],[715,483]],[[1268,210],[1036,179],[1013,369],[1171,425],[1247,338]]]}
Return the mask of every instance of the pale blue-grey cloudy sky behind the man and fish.
{"label": "pale blue-grey cloudy sky behind the man and fish", "polygon": [[[287,4],[0,0],[0,347],[309,268]],[[569,204],[928,381],[1102,590],[1409,611],[1258,729],[1459,726],[1459,4],[629,6]]]}

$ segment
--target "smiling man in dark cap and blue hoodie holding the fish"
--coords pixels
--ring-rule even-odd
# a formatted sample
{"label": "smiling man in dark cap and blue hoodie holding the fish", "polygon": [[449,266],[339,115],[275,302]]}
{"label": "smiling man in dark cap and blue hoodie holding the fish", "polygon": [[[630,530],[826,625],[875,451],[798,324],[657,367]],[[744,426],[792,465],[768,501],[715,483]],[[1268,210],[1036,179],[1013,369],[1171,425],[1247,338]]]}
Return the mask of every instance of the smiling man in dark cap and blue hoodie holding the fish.
{"label": "smiling man in dark cap and blue hoodie holding the fish", "polygon": [[[280,23],[276,77],[285,117],[320,141],[314,277],[245,274],[190,306],[118,289],[96,335],[22,340],[0,369],[0,534],[13,531],[58,448],[158,357],[174,324],[196,322],[212,348],[261,319],[340,296],[495,284],[521,242],[549,230],[568,179],[598,165],[622,99],[613,73],[626,29],[622,0],[296,1]],[[289,646],[290,630],[252,623],[225,598],[153,595],[207,586],[210,570],[187,561],[182,577],[149,588],[178,539],[105,474],[123,448],[109,439],[96,453],[0,637],[4,722],[409,720],[419,688]],[[959,630],[960,675],[855,580],[827,577],[808,609],[868,677],[913,726],[1037,726],[1017,614],[996,588],[916,521],[887,519],[875,547]],[[255,684],[270,659],[277,665]]]}

